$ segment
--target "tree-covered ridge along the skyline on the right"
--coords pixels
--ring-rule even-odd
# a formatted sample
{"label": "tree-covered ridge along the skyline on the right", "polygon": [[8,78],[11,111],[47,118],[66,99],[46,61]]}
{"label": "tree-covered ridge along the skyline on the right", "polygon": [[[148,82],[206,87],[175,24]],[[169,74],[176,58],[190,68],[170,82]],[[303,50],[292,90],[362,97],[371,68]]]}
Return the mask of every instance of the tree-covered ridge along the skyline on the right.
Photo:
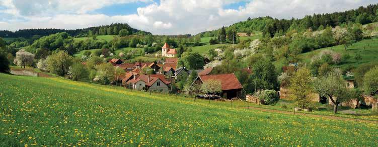
{"label": "tree-covered ridge along the skyline on the right", "polygon": [[[272,17],[248,18],[247,21],[235,23],[226,28],[226,31],[234,32],[252,32],[262,31],[263,35],[273,37],[275,35],[283,35],[290,30],[303,32],[309,28],[312,30],[324,29],[325,26],[342,26],[348,23],[368,24],[378,22],[377,16],[378,5],[369,5],[367,7],[359,7],[355,10],[345,12],[335,12],[331,14],[314,14],[301,19],[274,19]],[[201,37],[218,36],[218,30],[206,31],[199,33]]]}

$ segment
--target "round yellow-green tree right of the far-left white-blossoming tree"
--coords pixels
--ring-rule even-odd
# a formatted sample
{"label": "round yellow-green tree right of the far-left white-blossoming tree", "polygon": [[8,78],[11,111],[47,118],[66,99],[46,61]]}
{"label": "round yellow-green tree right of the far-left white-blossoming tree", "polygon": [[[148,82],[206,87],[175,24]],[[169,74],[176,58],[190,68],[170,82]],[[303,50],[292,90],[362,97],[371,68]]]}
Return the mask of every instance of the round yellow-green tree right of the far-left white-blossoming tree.
{"label": "round yellow-green tree right of the far-left white-blossoming tree", "polygon": [[64,76],[72,65],[72,56],[66,51],[59,51],[46,58],[47,69],[58,76]]}

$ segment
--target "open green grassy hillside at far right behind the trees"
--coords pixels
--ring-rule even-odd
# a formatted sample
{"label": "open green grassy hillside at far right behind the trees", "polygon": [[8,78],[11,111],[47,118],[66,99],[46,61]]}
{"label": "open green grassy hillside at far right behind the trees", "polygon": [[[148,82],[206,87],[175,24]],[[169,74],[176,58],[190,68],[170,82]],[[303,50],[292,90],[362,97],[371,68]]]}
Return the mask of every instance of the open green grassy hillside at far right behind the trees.
{"label": "open green grassy hillside at far right behind the trees", "polygon": [[[314,51],[310,51],[307,53],[303,53],[299,55],[299,58],[304,61],[305,63],[310,63],[311,58],[314,55],[319,54],[322,50],[333,50],[335,52],[339,52],[341,54],[349,54],[351,58],[346,63],[341,63],[339,65],[334,65],[336,67],[340,68],[346,68],[347,66],[351,65],[354,67],[357,67],[359,64],[367,63],[367,62],[378,62],[378,38],[372,38],[372,39],[364,39],[359,42],[354,43],[352,46],[350,46],[347,51],[345,52],[343,45],[337,45],[327,48],[321,48]],[[354,59],[356,53],[360,53],[362,59],[357,62],[357,60]],[[275,61],[275,65],[277,68],[280,68],[283,65],[283,60]]]}

